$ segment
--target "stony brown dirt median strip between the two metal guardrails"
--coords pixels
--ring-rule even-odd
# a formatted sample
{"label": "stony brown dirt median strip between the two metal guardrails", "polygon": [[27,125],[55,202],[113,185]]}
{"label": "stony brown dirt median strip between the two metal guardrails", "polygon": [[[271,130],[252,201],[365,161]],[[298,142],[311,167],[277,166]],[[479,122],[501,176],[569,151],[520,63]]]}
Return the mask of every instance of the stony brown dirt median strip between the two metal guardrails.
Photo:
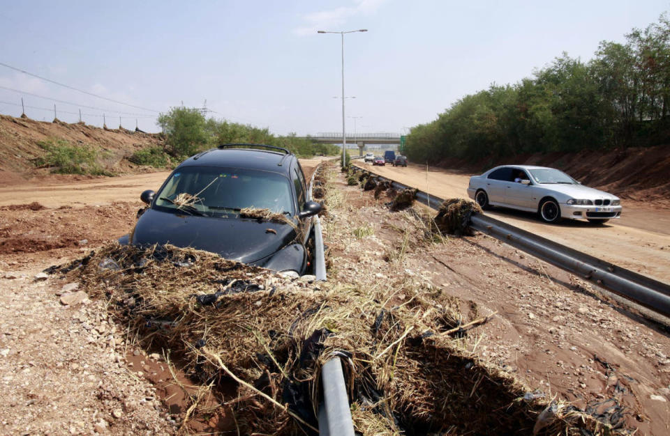
{"label": "stony brown dirt median strip between the two metal guardrails", "polygon": [[[345,208],[325,220],[332,279],[373,282],[391,298],[394,283],[419,277],[445,301],[461,299],[470,319],[497,312],[473,333],[471,351],[479,357],[519,377],[534,394],[605,417],[623,406],[627,427],[668,433],[666,331],[579,278],[484,235],[426,243],[417,238],[414,215],[389,213],[385,196],[375,200],[343,181],[338,187]],[[615,408],[604,412],[608,407]]]}

